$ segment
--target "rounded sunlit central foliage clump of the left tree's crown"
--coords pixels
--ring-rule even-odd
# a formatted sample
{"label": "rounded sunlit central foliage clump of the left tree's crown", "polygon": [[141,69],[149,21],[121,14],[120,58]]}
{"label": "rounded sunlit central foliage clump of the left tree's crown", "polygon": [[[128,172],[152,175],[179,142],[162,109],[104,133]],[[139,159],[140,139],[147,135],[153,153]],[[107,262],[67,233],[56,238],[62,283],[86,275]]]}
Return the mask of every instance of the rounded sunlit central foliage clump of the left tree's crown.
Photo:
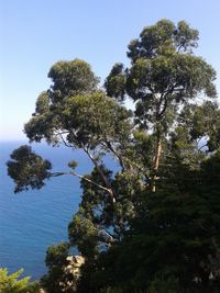
{"label": "rounded sunlit central foliage clump of the left tree's crown", "polygon": [[64,129],[70,129],[68,142],[95,148],[107,139],[129,134],[130,113],[107,98],[103,92],[69,98],[61,113]]}

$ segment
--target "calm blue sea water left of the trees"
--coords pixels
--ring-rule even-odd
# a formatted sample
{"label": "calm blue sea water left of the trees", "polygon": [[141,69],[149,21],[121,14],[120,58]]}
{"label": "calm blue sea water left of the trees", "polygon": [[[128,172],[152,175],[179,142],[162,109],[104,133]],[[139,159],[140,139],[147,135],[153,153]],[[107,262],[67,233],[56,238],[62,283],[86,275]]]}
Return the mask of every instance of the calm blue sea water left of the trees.
{"label": "calm blue sea water left of the trees", "polygon": [[[21,142],[0,143],[0,267],[37,280],[46,272],[44,264],[48,246],[67,239],[67,226],[80,202],[79,179],[72,176],[53,178],[42,190],[13,193],[14,183],[6,162]],[[33,149],[53,164],[55,171],[68,170],[68,161],[78,161],[81,174],[91,169],[80,150],[34,145]]]}

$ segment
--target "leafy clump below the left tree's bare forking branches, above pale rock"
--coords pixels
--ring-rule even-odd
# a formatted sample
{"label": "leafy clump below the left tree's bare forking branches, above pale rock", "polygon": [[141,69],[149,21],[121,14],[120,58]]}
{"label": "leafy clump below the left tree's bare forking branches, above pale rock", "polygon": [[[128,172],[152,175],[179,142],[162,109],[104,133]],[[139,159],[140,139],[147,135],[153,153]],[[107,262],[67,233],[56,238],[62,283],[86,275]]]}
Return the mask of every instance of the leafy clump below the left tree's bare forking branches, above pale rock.
{"label": "leafy clump below the left tree's bare forking branches, above pale rock", "polygon": [[[108,182],[114,188],[117,202],[112,202],[107,191],[82,180],[84,193],[79,211],[68,227],[70,244],[77,246],[89,259],[96,258],[100,251],[118,241],[129,219],[134,216],[135,199],[129,194],[131,192],[129,189],[133,190],[133,184],[136,184],[138,189],[138,176],[134,182],[130,180],[132,177],[128,178],[125,173],[123,176],[118,173],[113,180],[111,171],[105,166],[101,166],[101,169]],[[102,182],[96,168],[87,178],[96,180],[97,183]]]}

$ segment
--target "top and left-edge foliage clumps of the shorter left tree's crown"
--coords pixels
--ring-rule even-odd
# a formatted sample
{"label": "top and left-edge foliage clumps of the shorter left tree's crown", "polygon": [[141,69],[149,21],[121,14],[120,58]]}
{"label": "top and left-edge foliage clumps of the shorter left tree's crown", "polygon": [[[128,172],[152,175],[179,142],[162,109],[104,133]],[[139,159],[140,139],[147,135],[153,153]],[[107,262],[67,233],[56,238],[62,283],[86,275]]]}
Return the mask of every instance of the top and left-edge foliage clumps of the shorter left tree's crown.
{"label": "top and left-edge foliage clumps of the shorter left tree's crown", "polygon": [[59,131],[66,132],[59,115],[64,101],[73,95],[96,91],[98,78],[90,66],[79,59],[56,63],[51,68],[48,77],[52,79],[52,86],[37,98],[35,113],[25,124],[24,131],[30,140],[41,142],[42,138],[46,138],[48,143],[58,144]]}

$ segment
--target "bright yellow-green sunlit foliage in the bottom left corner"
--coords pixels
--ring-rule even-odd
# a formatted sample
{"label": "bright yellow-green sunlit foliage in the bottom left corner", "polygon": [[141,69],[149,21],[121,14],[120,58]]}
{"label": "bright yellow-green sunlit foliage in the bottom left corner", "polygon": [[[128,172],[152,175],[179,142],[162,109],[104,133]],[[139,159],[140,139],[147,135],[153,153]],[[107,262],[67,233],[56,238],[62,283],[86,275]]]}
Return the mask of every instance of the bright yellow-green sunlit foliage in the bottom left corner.
{"label": "bright yellow-green sunlit foliage in the bottom left corner", "polygon": [[0,292],[1,293],[37,293],[38,284],[30,283],[30,278],[20,278],[23,270],[8,274],[7,269],[0,268]]}

